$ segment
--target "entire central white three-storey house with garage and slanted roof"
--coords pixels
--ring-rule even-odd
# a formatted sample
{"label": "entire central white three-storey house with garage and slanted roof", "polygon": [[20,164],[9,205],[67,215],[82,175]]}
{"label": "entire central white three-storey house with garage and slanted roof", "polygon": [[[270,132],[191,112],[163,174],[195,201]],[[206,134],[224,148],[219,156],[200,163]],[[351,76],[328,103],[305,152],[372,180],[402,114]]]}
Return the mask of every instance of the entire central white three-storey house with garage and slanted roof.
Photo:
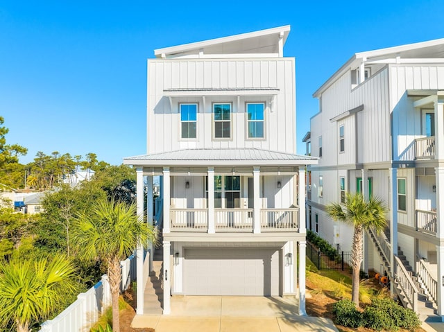
{"label": "entire central white three-storey house with garage and slanted roof", "polygon": [[[316,158],[296,155],[289,31],[171,46],[148,60],[147,155],[124,164],[137,168],[139,213],[146,178],[148,222],[161,176],[164,314],[171,295],[298,295],[305,314],[305,166]],[[144,284],[137,290],[143,314]]]}

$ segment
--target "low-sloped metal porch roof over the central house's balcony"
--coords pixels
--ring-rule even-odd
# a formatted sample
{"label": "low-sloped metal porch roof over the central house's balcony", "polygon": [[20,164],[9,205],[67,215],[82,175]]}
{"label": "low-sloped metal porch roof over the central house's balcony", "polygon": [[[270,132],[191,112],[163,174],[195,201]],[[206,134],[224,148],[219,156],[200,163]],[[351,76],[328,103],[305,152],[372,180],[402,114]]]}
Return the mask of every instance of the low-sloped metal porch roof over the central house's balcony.
{"label": "low-sloped metal porch roof over the central house's balcony", "polygon": [[306,165],[318,158],[258,148],[184,149],[123,158],[129,165]]}

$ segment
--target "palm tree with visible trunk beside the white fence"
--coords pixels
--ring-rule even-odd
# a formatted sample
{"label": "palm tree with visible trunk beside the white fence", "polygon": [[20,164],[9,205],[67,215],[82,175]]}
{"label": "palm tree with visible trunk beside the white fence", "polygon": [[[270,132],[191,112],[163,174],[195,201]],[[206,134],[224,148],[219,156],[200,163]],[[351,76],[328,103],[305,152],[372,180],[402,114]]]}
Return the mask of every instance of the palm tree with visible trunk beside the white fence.
{"label": "palm tree with visible trunk beside the white fence", "polygon": [[155,241],[153,227],[139,218],[135,204],[101,199],[94,204],[92,214],[76,218],[73,243],[80,256],[87,260],[101,259],[108,265],[112,300],[112,330],[120,331],[119,292],[120,261],[133,254],[137,245]]}

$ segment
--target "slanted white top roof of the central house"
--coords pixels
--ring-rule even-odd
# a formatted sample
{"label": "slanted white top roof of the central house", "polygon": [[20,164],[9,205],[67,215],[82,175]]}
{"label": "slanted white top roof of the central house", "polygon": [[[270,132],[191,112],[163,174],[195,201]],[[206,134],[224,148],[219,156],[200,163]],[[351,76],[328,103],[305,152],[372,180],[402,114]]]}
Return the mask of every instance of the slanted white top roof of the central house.
{"label": "slanted white top roof of the central house", "polygon": [[251,33],[204,40],[203,42],[156,49],[154,55],[157,58],[162,58],[162,55],[198,54],[200,49],[203,49],[205,54],[278,53],[280,36],[283,38],[283,46],[289,32],[290,26],[279,26]]}

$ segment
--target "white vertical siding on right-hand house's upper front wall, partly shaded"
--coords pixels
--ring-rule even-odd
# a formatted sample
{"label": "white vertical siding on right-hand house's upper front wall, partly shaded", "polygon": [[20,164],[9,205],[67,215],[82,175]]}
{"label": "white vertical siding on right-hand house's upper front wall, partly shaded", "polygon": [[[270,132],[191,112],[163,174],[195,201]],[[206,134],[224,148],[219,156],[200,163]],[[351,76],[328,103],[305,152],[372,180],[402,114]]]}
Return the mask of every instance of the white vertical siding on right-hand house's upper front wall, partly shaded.
{"label": "white vertical siding on right-hand house's upper front wall, partly shaded", "polygon": [[393,157],[395,160],[413,159],[413,140],[424,137],[421,128],[421,112],[413,107],[413,98],[408,98],[408,89],[444,89],[444,66],[436,65],[391,65],[391,96],[393,110]]}

